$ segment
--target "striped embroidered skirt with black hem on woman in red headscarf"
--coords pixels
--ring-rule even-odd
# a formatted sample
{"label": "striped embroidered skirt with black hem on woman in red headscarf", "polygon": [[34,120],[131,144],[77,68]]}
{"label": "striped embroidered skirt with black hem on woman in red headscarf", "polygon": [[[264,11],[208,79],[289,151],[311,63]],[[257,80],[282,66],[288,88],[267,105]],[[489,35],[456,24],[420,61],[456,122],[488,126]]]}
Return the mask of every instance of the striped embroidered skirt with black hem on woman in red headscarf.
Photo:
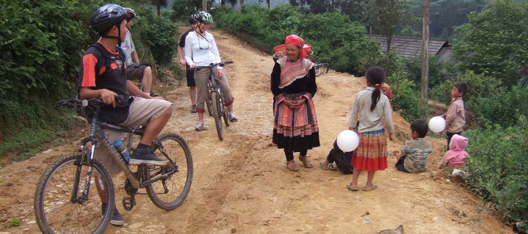
{"label": "striped embroidered skirt with black hem on woman in red headscarf", "polygon": [[[287,94],[287,100],[298,100],[302,94]],[[319,128],[314,101],[310,98],[298,109],[279,102],[275,105],[273,143],[279,149],[300,152],[319,147]]]}

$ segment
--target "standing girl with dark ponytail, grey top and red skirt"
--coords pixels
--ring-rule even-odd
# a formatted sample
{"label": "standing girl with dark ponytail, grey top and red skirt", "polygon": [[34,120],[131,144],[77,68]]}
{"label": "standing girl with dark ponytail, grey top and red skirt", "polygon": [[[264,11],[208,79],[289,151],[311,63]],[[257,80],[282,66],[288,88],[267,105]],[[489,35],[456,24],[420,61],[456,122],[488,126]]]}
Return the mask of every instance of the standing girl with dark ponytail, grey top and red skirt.
{"label": "standing girl with dark ponytail, grey top and red skirt", "polygon": [[[347,185],[347,188],[352,191],[359,190],[357,179],[361,171],[367,171],[367,181],[363,190],[370,191],[378,188],[372,183],[374,173],[388,168],[384,126],[389,132],[389,139],[394,141],[391,104],[380,90],[380,84],[383,84],[385,80],[385,71],[375,66],[371,67],[365,76],[367,87],[357,93],[348,121],[349,129],[359,133],[360,139],[359,146],[351,160],[351,165],[354,166],[352,182]],[[356,125],[358,114],[361,116],[359,126]],[[385,125],[383,125],[382,117]]]}

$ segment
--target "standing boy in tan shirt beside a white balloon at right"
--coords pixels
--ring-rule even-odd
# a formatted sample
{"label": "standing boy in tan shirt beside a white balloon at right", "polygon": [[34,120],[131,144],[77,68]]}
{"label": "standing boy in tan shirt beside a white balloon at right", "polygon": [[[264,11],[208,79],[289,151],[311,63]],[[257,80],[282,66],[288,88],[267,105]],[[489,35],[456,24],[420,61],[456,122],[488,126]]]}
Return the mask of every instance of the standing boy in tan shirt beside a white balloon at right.
{"label": "standing boy in tan shirt beside a white balloon at right", "polygon": [[463,97],[468,91],[468,86],[464,82],[458,82],[453,85],[451,90],[451,105],[442,116],[446,119],[447,145],[453,135],[462,133],[462,127],[466,125],[466,114],[464,111]]}

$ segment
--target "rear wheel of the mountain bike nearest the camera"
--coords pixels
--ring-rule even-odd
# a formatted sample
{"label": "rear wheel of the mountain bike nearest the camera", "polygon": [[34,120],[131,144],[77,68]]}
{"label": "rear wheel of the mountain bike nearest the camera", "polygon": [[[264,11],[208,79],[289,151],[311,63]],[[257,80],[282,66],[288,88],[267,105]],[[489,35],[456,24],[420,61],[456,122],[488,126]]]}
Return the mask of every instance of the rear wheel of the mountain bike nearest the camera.
{"label": "rear wheel of the mountain bike nearest the camera", "polygon": [[[157,157],[165,159],[171,158],[175,164],[168,163],[162,167],[149,170],[146,174],[150,177],[153,173],[162,174],[177,170],[171,176],[148,184],[147,190],[150,200],[159,208],[164,210],[176,209],[185,200],[191,190],[193,181],[193,158],[185,140],[175,132],[168,132],[156,138],[163,145],[157,148],[154,153]],[[165,152],[165,154],[162,152]]]}

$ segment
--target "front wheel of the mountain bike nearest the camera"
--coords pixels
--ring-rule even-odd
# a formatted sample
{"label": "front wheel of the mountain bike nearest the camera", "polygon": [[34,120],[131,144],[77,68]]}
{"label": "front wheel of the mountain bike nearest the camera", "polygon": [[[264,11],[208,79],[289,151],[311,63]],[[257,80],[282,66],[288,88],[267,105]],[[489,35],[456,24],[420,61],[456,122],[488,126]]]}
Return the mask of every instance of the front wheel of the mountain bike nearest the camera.
{"label": "front wheel of the mountain bike nearest the camera", "polygon": [[[88,153],[88,155],[89,155],[89,153]],[[35,213],[35,218],[36,218],[36,221],[37,221],[37,225],[39,226],[39,228],[42,231],[42,233],[44,233],[44,234],[55,234],[56,233],[52,229],[52,227],[50,227],[50,223],[48,222],[48,219],[46,219],[46,210],[44,208],[45,191],[46,191],[46,188],[48,187],[50,179],[54,176],[55,172],[59,171],[59,169],[61,169],[62,167],[64,167],[68,163],[80,162],[81,158],[82,158],[82,154],[81,153],[65,156],[65,157],[53,162],[42,173],[42,176],[41,176],[41,178],[39,180],[39,183],[37,183],[37,187],[36,187],[36,190],[35,190],[35,198],[34,198],[34,201],[33,201],[33,211]],[[115,206],[114,182],[112,182],[112,177],[111,177],[110,172],[108,171],[108,169],[99,160],[97,160],[97,159],[93,160],[92,164],[93,164],[92,172],[95,172],[95,173],[92,173],[93,180],[96,180],[96,174],[99,173],[99,175],[103,179],[102,182],[105,183],[105,187],[107,188],[107,191],[108,191],[107,207],[109,209],[107,209],[105,214],[102,215],[101,222],[96,227],[96,229],[94,231],[92,231],[92,232],[85,232],[85,233],[100,234],[103,231],[105,231],[106,227],[108,226],[108,223],[110,222],[112,212],[114,211],[112,209]],[[88,165],[82,165],[82,167],[88,168]],[[81,171],[82,171],[82,167],[81,167]],[[85,178],[86,178],[86,174],[81,174],[80,175],[80,178],[79,178],[79,192],[78,192],[78,194],[81,193],[82,190],[83,190],[83,185],[84,185],[84,179]],[[72,180],[74,180],[74,179],[72,178]],[[71,181],[71,182],[73,183],[73,181]],[[67,192],[66,190],[62,189],[61,187],[58,187],[58,186],[54,186],[54,187]],[[95,190],[95,193],[97,194],[97,189],[95,188],[95,186],[93,188],[90,188],[91,192],[92,192],[92,189]],[[51,191],[50,193],[55,193],[55,192]],[[58,194],[58,193],[55,193],[55,194]],[[71,197],[71,195],[72,194],[70,193],[69,196]],[[65,196],[65,195],[63,195],[63,196]],[[68,198],[64,198],[64,199],[68,199]],[[97,199],[100,199],[99,196],[97,196],[96,198],[93,198],[92,200],[97,201]],[[50,205],[49,207],[59,206],[58,204],[56,204],[59,201],[56,201],[56,200],[53,200],[53,201],[55,201],[54,204]],[[90,201],[90,200],[88,200],[88,201]],[[88,202],[88,201],[84,201],[84,202]],[[65,203],[61,203],[61,204],[64,204],[64,206],[66,206]],[[73,204],[73,206],[76,206],[76,204],[78,204],[78,203],[72,203],[72,204]],[[79,204],[78,206],[82,206],[82,204]],[[93,209],[97,209],[96,207],[88,208],[89,206],[87,206],[86,204],[84,206],[85,206],[85,208],[87,208],[87,209],[89,209],[91,211],[93,211]],[[62,208],[60,208],[60,209],[62,209]],[[77,211],[78,214],[82,218],[82,214],[80,214],[80,209],[81,208],[79,208],[79,209],[76,208],[75,210],[73,210],[73,208],[71,208],[70,211],[65,214],[64,218],[67,219],[67,220],[71,220],[75,211]],[[73,210],[73,212],[72,212],[72,210]],[[54,211],[60,211],[60,210],[59,210],[59,208],[56,208]],[[101,216],[101,214],[97,214],[97,215]],[[53,218],[53,216],[50,217],[50,218]],[[61,222],[64,218],[59,220],[59,222]],[[78,218],[77,221],[79,221],[79,218]],[[81,221],[83,222],[82,225],[86,226],[86,221],[90,221],[90,219],[87,219],[87,220],[82,219]],[[61,228],[61,226],[62,225],[60,225],[59,228]],[[70,229],[74,229],[74,228],[70,228],[70,222],[68,222],[68,226],[66,227],[66,229],[69,232]],[[78,227],[78,229],[79,229],[79,227]],[[86,229],[86,227],[83,227],[83,231],[85,229]],[[64,231],[61,231],[59,233],[63,233],[63,232]]]}

